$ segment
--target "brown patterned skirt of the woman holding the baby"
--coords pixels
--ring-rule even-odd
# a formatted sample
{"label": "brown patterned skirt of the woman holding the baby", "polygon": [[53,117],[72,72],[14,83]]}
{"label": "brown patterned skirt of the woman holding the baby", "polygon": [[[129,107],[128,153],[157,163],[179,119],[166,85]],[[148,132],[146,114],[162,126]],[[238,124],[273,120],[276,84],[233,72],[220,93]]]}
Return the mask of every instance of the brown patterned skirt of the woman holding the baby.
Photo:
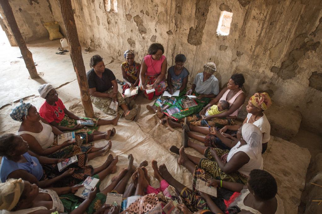
{"label": "brown patterned skirt of the woman holding the baby", "polygon": [[[205,126],[208,127],[206,122],[202,119],[202,117],[198,114],[190,115],[187,117],[188,121],[193,126]],[[224,126],[233,126],[235,125],[235,121],[233,119],[226,118],[213,118],[208,120],[207,123],[211,127],[223,128]]]}

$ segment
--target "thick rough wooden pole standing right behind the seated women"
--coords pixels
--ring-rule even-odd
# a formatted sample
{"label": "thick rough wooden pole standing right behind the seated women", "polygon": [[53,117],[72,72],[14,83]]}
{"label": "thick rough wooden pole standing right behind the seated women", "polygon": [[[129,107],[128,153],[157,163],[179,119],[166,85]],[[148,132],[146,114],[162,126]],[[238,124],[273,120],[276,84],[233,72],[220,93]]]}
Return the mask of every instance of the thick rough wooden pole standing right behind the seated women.
{"label": "thick rough wooden pole standing right behind the seated women", "polygon": [[62,19],[66,28],[66,36],[70,47],[71,61],[76,72],[78,85],[81,91],[81,102],[85,111],[86,117],[94,118],[94,110],[90,100],[90,92],[84,66],[83,57],[81,54],[81,45],[78,40],[78,34],[74,19],[71,0],[58,0],[58,5],[62,13]]}

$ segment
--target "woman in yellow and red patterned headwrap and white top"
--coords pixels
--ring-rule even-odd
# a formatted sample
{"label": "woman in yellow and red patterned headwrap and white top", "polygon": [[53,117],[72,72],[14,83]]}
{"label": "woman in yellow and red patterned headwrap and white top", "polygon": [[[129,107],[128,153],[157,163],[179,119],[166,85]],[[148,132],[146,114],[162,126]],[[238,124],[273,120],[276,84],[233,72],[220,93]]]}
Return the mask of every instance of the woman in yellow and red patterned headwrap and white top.
{"label": "woman in yellow and red patterned headwrap and white top", "polygon": [[[262,140],[262,154],[266,151],[268,141],[270,140],[270,122],[267,120],[264,110],[271,105],[270,96],[267,93],[256,93],[248,101],[246,111],[248,112],[243,124],[252,123],[258,128],[263,134]],[[206,137],[196,135],[191,131],[188,131],[188,136],[197,140],[201,140],[206,147],[215,147],[220,149],[231,149],[227,146],[231,140],[237,140],[232,136],[236,135],[237,130],[241,125],[224,126],[218,131],[216,135],[210,135],[209,129],[206,127],[189,126],[191,131],[200,132],[205,134]],[[202,140],[204,139],[204,140]]]}

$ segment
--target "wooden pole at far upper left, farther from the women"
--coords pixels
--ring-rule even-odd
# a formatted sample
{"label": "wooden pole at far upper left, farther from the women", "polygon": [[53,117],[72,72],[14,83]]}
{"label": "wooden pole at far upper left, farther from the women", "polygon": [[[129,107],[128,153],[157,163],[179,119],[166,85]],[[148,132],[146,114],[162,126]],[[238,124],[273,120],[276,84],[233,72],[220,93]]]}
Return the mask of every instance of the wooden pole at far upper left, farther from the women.
{"label": "wooden pole at far upper left, farther from the women", "polygon": [[17,45],[20,48],[21,55],[24,58],[24,63],[26,64],[26,68],[28,69],[30,77],[32,79],[40,78],[38,76],[35,64],[33,62],[33,54],[27,48],[27,45],[18,28],[17,22],[14,18],[14,13],[12,12],[12,8],[8,0],[0,0],[0,5],[3,9],[4,16],[7,19],[7,22],[11,28],[14,39],[16,40]]}

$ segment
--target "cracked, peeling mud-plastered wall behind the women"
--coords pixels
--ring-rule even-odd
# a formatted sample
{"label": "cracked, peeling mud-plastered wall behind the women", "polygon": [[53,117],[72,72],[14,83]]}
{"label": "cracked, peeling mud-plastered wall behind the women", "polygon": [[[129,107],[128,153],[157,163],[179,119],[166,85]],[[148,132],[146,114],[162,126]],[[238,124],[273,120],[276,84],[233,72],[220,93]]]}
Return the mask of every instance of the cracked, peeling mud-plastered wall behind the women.
{"label": "cracked, peeling mud-plastered wall behind the women", "polygon": [[[23,2],[29,9],[43,5],[63,26],[54,0],[49,0],[52,13],[48,1]],[[117,13],[106,12],[102,2],[72,0],[82,43],[120,60],[126,49],[134,49],[141,61],[148,46],[159,42],[169,66],[176,54],[186,55],[190,83],[204,63],[215,62],[222,87],[241,72],[248,96],[269,91],[275,104],[301,112],[303,127],[322,132],[322,92],[316,86],[322,72],[320,0],[118,0]],[[216,35],[222,10],[233,13],[228,36]]]}

